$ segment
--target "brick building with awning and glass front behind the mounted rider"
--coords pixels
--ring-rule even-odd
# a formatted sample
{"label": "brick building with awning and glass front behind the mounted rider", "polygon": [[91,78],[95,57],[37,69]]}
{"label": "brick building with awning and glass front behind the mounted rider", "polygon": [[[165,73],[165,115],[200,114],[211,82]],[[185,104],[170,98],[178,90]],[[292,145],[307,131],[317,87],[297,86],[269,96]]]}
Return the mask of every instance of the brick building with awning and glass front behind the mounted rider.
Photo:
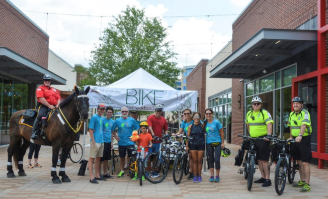
{"label": "brick building with awning and glass front behind the mounted rider", "polygon": [[66,80],[48,70],[49,35],[9,0],[0,0],[0,145],[9,143],[9,119],[35,107],[36,85],[50,74],[53,85]]}

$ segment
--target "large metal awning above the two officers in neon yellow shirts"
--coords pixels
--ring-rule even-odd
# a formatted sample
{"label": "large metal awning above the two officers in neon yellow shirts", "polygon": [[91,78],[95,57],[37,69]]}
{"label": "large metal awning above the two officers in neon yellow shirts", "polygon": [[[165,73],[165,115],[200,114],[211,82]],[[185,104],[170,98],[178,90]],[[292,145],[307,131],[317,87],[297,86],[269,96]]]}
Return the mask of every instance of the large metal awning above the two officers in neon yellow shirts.
{"label": "large metal awning above the two officers in neon yellow shirts", "polygon": [[261,29],[210,71],[210,78],[246,78],[317,44],[317,30]]}

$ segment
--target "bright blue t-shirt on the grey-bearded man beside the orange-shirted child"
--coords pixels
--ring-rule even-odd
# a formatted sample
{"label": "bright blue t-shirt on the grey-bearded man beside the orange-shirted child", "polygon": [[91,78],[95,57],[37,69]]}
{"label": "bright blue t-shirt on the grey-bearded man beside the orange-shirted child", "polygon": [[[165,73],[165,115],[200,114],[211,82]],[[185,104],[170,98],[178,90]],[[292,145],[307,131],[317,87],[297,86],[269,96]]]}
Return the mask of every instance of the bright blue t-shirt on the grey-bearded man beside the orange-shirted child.
{"label": "bright blue t-shirt on the grey-bearded man beside the orange-shirted child", "polygon": [[132,136],[132,131],[139,129],[139,125],[135,119],[131,117],[126,119],[123,119],[123,117],[118,118],[114,121],[112,131],[116,128],[118,131],[118,137],[120,138],[120,141],[118,141],[119,146],[134,145],[134,142],[130,141],[130,137]]}

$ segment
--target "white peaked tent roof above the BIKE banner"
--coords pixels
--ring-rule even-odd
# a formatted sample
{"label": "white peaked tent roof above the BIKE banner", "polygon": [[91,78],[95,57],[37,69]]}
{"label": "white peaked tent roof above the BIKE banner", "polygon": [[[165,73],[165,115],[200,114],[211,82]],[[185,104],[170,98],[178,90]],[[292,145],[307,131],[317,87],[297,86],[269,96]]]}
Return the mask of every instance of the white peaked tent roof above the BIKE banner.
{"label": "white peaked tent roof above the BIKE banner", "polygon": [[134,89],[160,89],[160,90],[173,90],[172,87],[168,86],[161,80],[152,76],[150,73],[142,68],[139,68],[130,75],[106,86],[108,88],[134,88]]}

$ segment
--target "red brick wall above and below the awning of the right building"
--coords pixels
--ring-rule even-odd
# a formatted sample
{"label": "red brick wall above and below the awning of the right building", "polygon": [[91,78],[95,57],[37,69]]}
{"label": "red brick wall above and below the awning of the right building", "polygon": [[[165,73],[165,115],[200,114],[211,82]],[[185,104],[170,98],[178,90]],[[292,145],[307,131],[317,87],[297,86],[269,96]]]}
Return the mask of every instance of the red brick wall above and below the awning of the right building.
{"label": "red brick wall above and below the awning of the right building", "polygon": [[[317,14],[317,0],[254,0],[233,24],[233,51],[262,28],[295,29],[310,20],[310,16],[314,17]],[[238,95],[241,95],[241,109],[238,108]],[[234,144],[242,142],[237,135],[244,133],[244,120],[244,83],[239,79],[233,79],[232,143]]]}

